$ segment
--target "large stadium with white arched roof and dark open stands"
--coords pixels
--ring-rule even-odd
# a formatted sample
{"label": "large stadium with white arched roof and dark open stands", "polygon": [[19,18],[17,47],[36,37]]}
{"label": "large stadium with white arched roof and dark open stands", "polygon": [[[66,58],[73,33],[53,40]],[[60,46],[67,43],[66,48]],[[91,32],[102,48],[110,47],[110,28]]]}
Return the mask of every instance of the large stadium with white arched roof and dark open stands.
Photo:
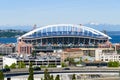
{"label": "large stadium with white arched roof and dark open stands", "polygon": [[109,39],[108,35],[81,24],[57,24],[34,29],[20,36],[18,41],[32,44],[37,51],[53,51],[98,47]]}

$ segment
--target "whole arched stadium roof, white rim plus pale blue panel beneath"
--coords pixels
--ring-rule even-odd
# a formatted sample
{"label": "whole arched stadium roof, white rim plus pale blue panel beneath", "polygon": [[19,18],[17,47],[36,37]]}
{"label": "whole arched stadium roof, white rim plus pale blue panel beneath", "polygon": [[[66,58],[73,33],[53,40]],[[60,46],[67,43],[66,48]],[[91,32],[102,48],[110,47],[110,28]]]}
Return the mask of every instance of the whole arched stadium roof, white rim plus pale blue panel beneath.
{"label": "whole arched stadium roof, white rim plus pale blue panel beneath", "polygon": [[92,33],[95,35],[100,35],[103,37],[107,37],[108,39],[111,39],[111,37],[109,37],[108,35],[98,30],[95,30],[93,28],[89,28],[83,25],[76,25],[76,24],[56,24],[56,25],[43,26],[20,36],[18,39],[28,37],[29,35],[32,35],[36,32],[54,32],[54,31],[59,32],[59,31],[70,31],[70,30],[76,31],[76,32],[83,32],[83,33],[86,31],[87,33]]}

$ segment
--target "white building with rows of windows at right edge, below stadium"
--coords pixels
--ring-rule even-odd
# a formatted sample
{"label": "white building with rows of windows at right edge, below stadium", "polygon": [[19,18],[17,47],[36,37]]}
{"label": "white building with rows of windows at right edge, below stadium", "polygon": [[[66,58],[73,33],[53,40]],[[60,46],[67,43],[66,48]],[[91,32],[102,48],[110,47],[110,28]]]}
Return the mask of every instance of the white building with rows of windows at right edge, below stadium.
{"label": "white building with rows of windows at right edge, below stadium", "polygon": [[95,60],[103,61],[103,62],[109,62],[109,61],[119,61],[120,62],[120,55],[117,54],[116,52],[104,53],[104,52],[102,52],[102,50],[96,50]]}

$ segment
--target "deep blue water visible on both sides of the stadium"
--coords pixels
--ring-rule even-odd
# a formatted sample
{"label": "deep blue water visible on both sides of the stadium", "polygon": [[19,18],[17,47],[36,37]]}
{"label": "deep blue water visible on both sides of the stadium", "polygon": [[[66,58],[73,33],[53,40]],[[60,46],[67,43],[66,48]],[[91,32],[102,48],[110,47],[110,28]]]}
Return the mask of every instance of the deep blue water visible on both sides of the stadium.
{"label": "deep blue water visible on both sides of the stadium", "polygon": [[[117,33],[117,34],[116,34]],[[107,34],[112,38],[112,43],[120,43],[120,32],[108,32]],[[0,38],[0,43],[16,43],[17,38]]]}

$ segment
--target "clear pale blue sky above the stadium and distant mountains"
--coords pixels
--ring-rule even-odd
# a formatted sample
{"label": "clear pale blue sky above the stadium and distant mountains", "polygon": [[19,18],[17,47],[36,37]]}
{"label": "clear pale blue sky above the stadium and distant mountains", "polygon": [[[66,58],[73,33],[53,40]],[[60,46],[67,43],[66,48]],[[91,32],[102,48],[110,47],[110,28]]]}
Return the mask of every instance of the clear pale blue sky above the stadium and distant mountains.
{"label": "clear pale blue sky above the stadium and distant mountains", "polygon": [[0,25],[120,24],[120,0],[0,0]]}

